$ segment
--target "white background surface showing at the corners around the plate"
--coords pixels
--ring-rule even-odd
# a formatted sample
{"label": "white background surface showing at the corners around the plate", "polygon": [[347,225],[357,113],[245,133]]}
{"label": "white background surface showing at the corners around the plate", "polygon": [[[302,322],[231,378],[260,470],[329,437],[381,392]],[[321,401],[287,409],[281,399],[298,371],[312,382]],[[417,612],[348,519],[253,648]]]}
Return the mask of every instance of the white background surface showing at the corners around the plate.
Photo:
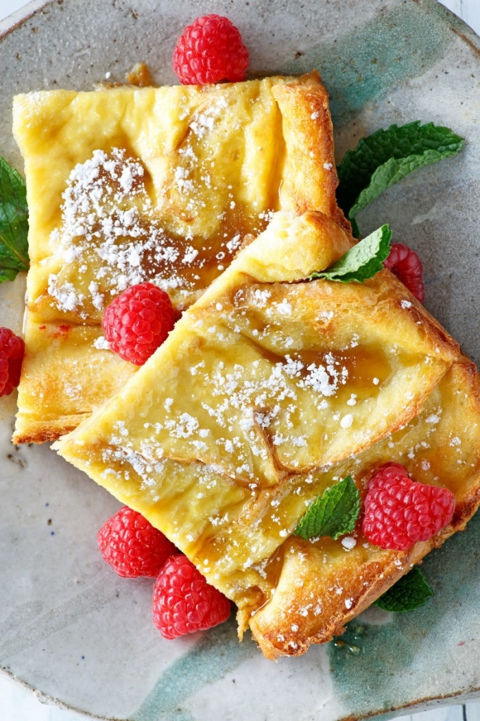
{"label": "white background surface showing at the corners around the plate", "polygon": [[[368,0],[366,0],[368,1]],[[21,9],[24,0],[0,0],[0,20]],[[443,0],[480,35],[480,0]],[[480,721],[480,702],[402,716],[397,721]],[[85,721],[81,714],[40,703],[32,691],[0,675],[0,721]],[[221,721],[212,719],[212,721]],[[294,721],[294,720],[292,720]],[[320,721],[320,720],[319,720]]]}

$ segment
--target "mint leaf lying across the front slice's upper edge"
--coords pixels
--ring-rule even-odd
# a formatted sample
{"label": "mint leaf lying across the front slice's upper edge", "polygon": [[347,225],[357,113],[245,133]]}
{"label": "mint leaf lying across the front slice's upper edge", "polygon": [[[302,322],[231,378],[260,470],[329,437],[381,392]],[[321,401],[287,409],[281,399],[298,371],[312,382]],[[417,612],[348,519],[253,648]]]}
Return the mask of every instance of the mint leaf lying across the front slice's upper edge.
{"label": "mint leaf lying across the front slice's upper edge", "polygon": [[327,270],[312,273],[310,280],[326,278],[341,283],[350,283],[352,280],[363,283],[363,280],[373,278],[373,275],[384,267],[384,260],[390,252],[390,241],[391,230],[388,225],[383,225],[350,248]]}

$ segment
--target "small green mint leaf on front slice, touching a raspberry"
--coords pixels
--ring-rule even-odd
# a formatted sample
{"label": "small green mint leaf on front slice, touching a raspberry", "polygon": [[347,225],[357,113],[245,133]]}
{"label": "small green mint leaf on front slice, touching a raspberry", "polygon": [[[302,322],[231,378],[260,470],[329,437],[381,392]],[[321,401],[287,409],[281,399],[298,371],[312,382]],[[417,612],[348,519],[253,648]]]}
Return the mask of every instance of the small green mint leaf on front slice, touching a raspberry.
{"label": "small green mint leaf on front slice, touching a raspberry", "polygon": [[326,490],[300,519],[294,534],[308,541],[314,536],[339,536],[355,528],[360,513],[360,495],[351,476]]}

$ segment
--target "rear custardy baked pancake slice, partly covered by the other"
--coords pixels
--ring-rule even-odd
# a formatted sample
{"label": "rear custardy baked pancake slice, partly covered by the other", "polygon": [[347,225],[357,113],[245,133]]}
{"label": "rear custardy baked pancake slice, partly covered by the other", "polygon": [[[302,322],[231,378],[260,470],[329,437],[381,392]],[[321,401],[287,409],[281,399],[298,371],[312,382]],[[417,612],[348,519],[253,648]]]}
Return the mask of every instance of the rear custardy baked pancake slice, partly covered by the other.
{"label": "rear custardy baked pancake slice, partly covered by the other", "polygon": [[14,99],[30,211],[15,443],[58,438],[136,371],[101,318],[150,280],[179,315],[273,211],[349,228],[320,77],[34,92]]}

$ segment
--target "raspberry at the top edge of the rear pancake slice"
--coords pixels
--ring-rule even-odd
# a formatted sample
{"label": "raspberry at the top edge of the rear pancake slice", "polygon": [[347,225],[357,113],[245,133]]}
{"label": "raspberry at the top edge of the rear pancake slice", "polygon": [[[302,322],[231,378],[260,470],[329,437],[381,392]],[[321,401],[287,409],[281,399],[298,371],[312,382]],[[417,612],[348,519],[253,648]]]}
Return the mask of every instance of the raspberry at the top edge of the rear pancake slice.
{"label": "raspberry at the top edge of the rear pancake slice", "polygon": [[248,50],[227,17],[204,15],[185,28],[173,50],[173,70],[184,85],[245,79]]}

